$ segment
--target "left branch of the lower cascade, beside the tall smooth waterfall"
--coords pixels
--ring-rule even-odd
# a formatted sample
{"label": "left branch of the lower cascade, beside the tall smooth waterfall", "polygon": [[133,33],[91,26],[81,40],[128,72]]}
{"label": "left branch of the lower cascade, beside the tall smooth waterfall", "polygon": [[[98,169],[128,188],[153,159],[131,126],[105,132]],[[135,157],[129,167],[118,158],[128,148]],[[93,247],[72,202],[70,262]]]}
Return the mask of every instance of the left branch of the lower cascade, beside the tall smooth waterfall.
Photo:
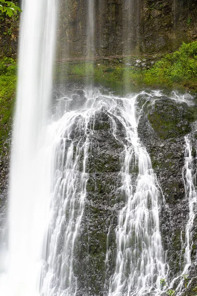
{"label": "left branch of the lower cascade, beside the tall smooth waterfall", "polygon": [[45,296],[75,295],[77,290],[73,261],[88,180],[89,135],[86,130],[89,111],[76,111],[76,96],[73,98],[75,101],[68,100],[65,109],[74,110],[66,112],[50,127],[54,143],[54,180],[41,284],[41,295]]}

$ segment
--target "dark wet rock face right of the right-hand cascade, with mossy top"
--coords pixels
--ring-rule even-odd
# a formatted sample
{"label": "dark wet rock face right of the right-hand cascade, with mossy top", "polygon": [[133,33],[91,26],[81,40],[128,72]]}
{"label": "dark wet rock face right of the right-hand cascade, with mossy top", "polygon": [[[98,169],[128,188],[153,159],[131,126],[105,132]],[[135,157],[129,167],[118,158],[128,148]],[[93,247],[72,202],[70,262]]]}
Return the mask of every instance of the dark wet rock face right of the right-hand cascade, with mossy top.
{"label": "dark wet rock face right of the right-hand cascade, with mossy top", "polygon": [[[184,186],[184,135],[191,133],[191,144],[197,147],[195,132],[191,132],[191,122],[196,119],[195,106],[173,101],[167,97],[154,98],[151,103],[148,95],[139,97],[144,111],[139,119],[138,133],[152,160],[161,190],[160,228],[164,250],[167,251],[169,278],[173,279],[184,268],[184,243],[186,223],[189,219],[189,201]],[[196,155],[196,149],[194,151]],[[193,174],[196,174],[196,158],[193,161]],[[165,200],[165,203],[164,203]],[[193,241],[197,244],[196,221]],[[191,258],[195,264],[196,247]],[[193,265],[191,277],[194,275]],[[178,282],[177,282],[178,284]]]}

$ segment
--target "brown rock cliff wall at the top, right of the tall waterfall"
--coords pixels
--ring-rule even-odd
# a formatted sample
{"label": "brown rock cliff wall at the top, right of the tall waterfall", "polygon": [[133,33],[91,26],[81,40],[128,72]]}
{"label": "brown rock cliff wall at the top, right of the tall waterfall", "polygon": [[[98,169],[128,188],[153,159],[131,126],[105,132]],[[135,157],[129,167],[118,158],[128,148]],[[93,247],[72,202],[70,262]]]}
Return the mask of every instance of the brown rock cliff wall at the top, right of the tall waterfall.
{"label": "brown rock cliff wall at the top, right of the tall waterfall", "polygon": [[197,0],[61,0],[58,57],[157,53],[197,39]]}

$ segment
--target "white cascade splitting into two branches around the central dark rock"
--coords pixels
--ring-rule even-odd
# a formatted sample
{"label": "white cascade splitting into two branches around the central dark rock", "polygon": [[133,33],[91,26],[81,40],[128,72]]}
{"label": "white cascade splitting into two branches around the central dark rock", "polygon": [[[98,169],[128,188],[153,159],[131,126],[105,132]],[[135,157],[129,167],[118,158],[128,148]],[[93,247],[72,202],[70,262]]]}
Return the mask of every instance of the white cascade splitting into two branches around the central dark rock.
{"label": "white cascade splitting into two branches around the central dark rock", "polygon": [[[41,295],[75,295],[79,289],[74,272],[76,244],[79,243],[89,178],[86,163],[91,151],[94,120],[99,111],[109,116],[114,137],[118,137],[116,120],[123,124],[128,142],[120,172],[121,190],[123,195],[126,194],[127,202],[119,215],[116,270],[111,278],[109,295],[130,291],[143,294],[160,289],[164,263],[158,189],[150,157],[137,137],[135,99],[136,96],[104,96],[97,89],[93,93],[78,90],[57,99],[59,107],[55,109],[54,122],[48,127],[53,139],[54,180]],[[131,167],[139,170],[136,188],[131,181]]]}

